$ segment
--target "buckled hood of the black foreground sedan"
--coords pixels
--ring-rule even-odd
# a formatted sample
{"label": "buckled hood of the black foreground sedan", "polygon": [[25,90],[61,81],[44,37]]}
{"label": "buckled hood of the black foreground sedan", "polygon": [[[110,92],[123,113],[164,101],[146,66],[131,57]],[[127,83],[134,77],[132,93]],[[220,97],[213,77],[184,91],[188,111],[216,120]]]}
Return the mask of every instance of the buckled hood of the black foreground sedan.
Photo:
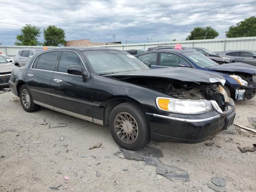
{"label": "buckled hood of the black foreground sedan", "polygon": [[203,71],[203,70],[183,68],[183,67],[138,70],[138,71],[108,74],[104,76],[113,76],[116,78],[117,77],[160,77],[160,78],[170,78],[170,79],[187,81],[187,82],[206,82],[206,83],[220,82],[222,84],[223,82],[225,82],[225,78],[222,75]]}

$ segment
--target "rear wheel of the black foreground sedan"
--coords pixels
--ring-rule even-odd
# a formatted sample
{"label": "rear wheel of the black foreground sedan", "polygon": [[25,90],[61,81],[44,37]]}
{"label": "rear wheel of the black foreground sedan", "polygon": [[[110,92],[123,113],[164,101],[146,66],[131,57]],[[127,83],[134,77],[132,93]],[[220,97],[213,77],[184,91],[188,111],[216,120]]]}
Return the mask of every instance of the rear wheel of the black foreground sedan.
{"label": "rear wheel of the black foreground sedan", "polygon": [[39,105],[34,104],[32,95],[26,85],[20,87],[20,103],[26,112],[34,112],[40,108]]}

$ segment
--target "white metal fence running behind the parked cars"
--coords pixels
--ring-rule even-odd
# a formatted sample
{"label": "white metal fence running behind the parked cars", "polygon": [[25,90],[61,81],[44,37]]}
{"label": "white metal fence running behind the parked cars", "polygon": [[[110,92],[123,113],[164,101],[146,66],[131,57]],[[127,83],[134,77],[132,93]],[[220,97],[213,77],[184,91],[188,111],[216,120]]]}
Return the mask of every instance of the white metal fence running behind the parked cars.
{"label": "white metal fence running behind the parked cars", "polygon": [[[112,47],[120,50],[128,49],[148,49],[155,46],[175,45],[177,43],[186,47],[202,47],[214,52],[224,52],[227,50],[256,50],[256,37],[240,37],[240,38],[224,38],[224,39],[204,39],[189,41],[168,41],[168,42],[151,42],[151,43],[135,43],[135,44],[115,44],[105,45],[104,47]],[[102,45],[97,45],[102,47]],[[15,56],[19,50],[25,48],[43,48],[43,46],[0,46],[0,52],[8,56]],[[56,47],[48,47],[56,48]]]}

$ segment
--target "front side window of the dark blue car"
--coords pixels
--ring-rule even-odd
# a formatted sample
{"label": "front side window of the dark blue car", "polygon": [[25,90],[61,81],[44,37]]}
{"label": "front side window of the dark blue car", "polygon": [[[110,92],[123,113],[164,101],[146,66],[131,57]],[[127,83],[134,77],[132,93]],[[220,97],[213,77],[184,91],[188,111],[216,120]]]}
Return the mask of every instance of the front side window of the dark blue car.
{"label": "front side window of the dark blue car", "polygon": [[160,53],[160,66],[179,67],[180,63],[188,64],[188,62],[184,58],[176,54]]}

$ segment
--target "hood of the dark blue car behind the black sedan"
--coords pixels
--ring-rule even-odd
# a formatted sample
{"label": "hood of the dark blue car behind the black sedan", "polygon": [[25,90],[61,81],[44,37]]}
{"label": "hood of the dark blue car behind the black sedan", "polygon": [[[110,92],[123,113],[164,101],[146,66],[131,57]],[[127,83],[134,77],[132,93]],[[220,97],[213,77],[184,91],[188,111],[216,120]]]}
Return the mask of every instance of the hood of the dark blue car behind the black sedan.
{"label": "hood of the dark blue car behind the black sedan", "polygon": [[209,67],[211,71],[229,71],[229,72],[243,72],[254,74],[256,73],[256,66],[245,63],[226,63],[219,66]]}

